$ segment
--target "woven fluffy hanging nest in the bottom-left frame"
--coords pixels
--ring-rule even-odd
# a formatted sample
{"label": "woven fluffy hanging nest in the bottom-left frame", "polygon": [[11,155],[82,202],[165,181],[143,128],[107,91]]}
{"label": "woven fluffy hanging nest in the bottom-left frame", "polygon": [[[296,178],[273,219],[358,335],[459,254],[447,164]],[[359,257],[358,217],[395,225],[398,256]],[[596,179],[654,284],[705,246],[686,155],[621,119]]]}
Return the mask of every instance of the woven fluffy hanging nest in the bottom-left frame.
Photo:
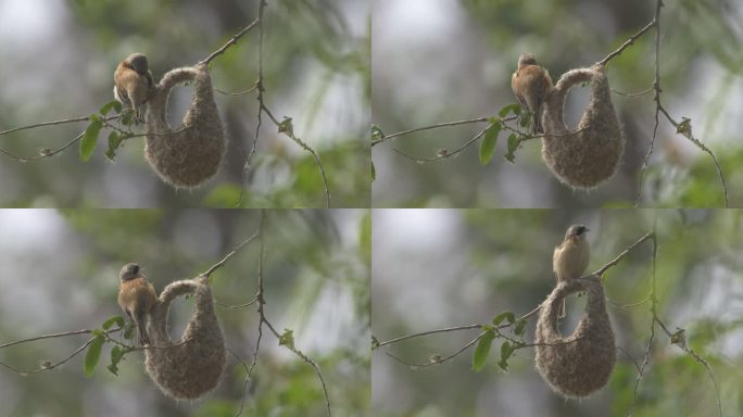
{"label": "woven fluffy hanging nest in the bottom-left frame", "polygon": [[[167,333],[167,315],[173,301],[186,294],[194,294],[193,315],[184,336],[174,342]],[[204,278],[165,287],[148,330],[153,348],[144,351],[144,365],[166,395],[196,400],[219,383],[226,359],[225,340],[214,314],[212,290]]]}

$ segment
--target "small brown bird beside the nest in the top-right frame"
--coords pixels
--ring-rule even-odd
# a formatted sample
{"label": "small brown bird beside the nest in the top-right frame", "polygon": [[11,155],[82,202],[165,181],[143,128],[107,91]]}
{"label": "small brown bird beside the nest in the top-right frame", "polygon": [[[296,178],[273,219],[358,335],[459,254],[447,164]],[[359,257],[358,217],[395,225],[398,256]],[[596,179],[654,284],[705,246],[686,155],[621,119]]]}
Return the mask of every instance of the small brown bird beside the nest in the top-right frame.
{"label": "small brown bird beside the nest in the top-right frame", "polygon": [[511,89],[521,103],[521,108],[529,109],[533,117],[532,132],[543,134],[542,105],[547,92],[552,89],[552,78],[546,70],[537,64],[530,53],[521,53],[518,58],[518,68],[511,76]]}

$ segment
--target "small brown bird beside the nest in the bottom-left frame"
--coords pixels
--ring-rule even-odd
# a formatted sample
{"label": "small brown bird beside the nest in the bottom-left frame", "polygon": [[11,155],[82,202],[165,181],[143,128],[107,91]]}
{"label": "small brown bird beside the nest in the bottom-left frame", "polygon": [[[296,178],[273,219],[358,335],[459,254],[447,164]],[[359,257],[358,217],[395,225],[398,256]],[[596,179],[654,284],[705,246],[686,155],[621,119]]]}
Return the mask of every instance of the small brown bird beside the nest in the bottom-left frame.
{"label": "small brown bird beside the nest in the bottom-left frame", "polygon": [[118,305],[137,325],[139,345],[150,344],[150,337],[147,334],[147,316],[158,304],[154,287],[144,279],[137,264],[124,265],[118,277],[122,280],[118,289]]}

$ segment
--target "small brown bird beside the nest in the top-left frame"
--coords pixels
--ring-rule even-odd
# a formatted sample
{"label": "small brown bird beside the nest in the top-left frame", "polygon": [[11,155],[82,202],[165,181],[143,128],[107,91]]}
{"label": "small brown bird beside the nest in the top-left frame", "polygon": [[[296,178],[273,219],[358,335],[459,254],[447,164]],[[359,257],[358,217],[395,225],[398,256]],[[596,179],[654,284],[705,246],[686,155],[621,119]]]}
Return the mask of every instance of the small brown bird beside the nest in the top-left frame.
{"label": "small brown bird beside the nest in the top-left frame", "polygon": [[147,67],[147,56],[133,53],[122,61],[114,72],[114,97],[131,108],[137,122],[144,121],[144,105],[154,88],[152,72]]}

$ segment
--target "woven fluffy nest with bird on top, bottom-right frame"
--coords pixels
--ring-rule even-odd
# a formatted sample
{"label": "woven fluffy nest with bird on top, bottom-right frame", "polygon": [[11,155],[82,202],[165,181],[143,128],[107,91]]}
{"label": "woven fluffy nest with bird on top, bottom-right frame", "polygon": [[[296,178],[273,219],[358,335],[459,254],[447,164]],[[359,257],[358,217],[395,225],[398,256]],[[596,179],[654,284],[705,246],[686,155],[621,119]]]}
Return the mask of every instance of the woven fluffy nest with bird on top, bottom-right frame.
{"label": "woven fluffy nest with bird on top, bottom-right frame", "polygon": [[[579,291],[588,292],[587,314],[572,334],[563,337],[557,330],[559,305],[565,296]],[[537,369],[555,392],[581,397],[604,387],[614,368],[616,351],[599,278],[558,283],[542,303],[534,339]]]}

